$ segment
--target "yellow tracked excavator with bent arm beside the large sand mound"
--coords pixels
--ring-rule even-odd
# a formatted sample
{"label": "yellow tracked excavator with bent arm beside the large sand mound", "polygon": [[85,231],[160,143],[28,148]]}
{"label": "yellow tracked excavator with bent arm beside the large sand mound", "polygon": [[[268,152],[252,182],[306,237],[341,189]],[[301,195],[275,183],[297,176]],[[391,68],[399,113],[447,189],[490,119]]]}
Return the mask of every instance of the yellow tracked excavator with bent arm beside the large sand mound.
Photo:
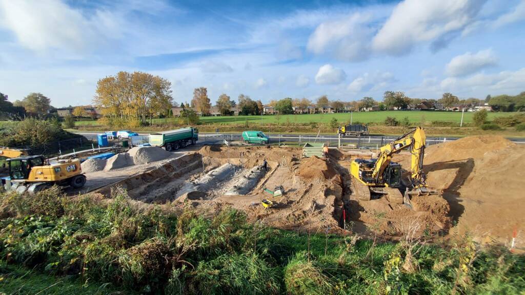
{"label": "yellow tracked excavator with bent arm beside the large sand mound", "polygon": [[[412,207],[410,199],[413,195],[436,194],[430,191],[423,172],[423,156],[425,154],[425,131],[417,127],[396,140],[381,147],[377,159],[356,159],[350,164],[353,194],[356,198],[369,201],[371,194],[384,195],[389,202],[406,204]],[[392,155],[408,150],[411,156],[410,182],[402,183],[401,165],[392,162]],[[401,193],[401,188],[405,193]]]}

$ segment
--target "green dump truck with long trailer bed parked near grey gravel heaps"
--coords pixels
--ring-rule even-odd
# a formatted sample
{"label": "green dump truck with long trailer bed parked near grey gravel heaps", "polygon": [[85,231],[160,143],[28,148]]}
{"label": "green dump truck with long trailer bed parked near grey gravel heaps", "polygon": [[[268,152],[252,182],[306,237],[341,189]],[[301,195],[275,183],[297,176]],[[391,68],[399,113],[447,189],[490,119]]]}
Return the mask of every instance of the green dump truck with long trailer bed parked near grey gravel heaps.
{"label": "green dump truck with long trailer bed parked near grey gravel heaps", "polygon": [[197,140],[198,130],[191,127],[150,134],[152,146],[162,146],[169,152],[183,149],[186,145],[195,144]]}

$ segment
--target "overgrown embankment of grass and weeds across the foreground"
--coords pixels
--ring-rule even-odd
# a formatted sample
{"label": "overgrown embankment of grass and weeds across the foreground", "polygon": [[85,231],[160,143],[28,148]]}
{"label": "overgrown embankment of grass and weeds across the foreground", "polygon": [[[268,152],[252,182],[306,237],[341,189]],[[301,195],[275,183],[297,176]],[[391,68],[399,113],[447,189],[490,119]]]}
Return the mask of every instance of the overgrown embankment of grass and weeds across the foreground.
{"label": "overgrown embankment of grass and weeds across the foreground", "polygon": [[[187,208],[112,199],[0,195],[0,292],[7,294],[520,294],[525,256],[468,236],[292,232],[250,224],[233,209],[206,219]],[[430,237],[426,237],[427,239]],[[378,239],[380,240],[380,239]],[[131,291],[134,290],[134,291]]]}

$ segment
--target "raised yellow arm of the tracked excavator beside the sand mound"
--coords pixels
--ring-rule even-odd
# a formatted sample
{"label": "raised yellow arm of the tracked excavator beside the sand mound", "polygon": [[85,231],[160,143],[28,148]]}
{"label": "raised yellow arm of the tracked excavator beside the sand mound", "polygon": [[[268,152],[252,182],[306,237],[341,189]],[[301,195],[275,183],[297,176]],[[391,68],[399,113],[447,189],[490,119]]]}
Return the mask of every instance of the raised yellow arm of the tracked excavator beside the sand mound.
{"label": "raised yellow arm of the tracked excavator beside the sand mound", "polygon": [[426,186],[423,172],[423,156],[425,151],[426,136],[421,127],[401,135],[395,141],[381,147],[377,161],[372,171],[372,177],[379,183],[386,167],[392,161],[392,155],[402,150],[409,150],[411,156],[411,182],[414,188]]}

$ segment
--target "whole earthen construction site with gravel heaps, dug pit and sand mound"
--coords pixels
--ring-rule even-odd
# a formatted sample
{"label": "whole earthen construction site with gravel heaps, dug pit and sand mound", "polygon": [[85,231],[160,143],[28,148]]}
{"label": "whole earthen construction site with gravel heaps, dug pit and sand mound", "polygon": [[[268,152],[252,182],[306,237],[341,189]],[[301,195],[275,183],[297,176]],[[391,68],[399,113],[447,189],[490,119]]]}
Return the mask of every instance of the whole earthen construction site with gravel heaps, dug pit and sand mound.
{"label": "whole earthen construction site with gravel heaps, dug pit and sand mound", "polygon": [[[368,192],[369,187],[351,173],[352,162],[370,167],[376,163],[370,159],[381,156],[383,148],[319,148],[323,144],[315,148],[313,144],[309,153],[309,144],[223,144],[188,146],[176,152],[143,146],[105,160],[88,159],[81,164],[85,186],[66,191],[109,198],[113,188],[122,187],[146,206],[180,212],[191,207],[208,217],[233,207],[246,212],[251,222],[275,228],[394,240],[407,230],[434,236],[468,232],[503,244],[521,234],[525,147],[498,136],[471,136],[429,146],[418,155],[419,173],[425,178],[416,188],[410,185],[414,183],[411,167],[414,170],[418,166],[414,161],[419,160],[413,159],[414,143],[406,142],[414,137],[400,138],[406,146],[385,145],[396,148],[386,152],[388,168],[392,163],[401,166],[402,185],[396,188],[371,186]],[[418,193],[409,192],[416,189]]]}

